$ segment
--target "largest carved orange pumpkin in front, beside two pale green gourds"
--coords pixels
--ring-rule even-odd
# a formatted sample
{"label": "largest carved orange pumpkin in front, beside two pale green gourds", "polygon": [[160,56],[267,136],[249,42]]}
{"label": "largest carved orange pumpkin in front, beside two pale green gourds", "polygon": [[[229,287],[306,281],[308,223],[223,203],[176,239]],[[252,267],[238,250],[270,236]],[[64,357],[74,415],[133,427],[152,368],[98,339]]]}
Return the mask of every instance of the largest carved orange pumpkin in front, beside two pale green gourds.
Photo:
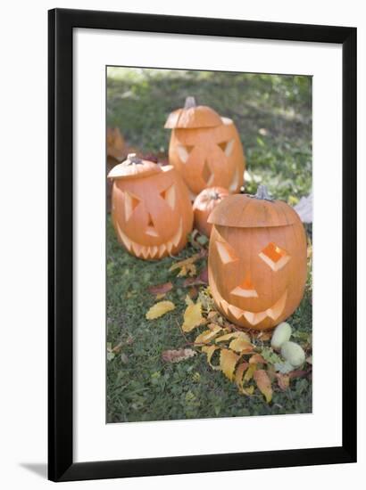
{"label": "largest carved orange pumpkin in front, beside two pale green gourds", "polygon": [[306,237],[295,210],[255,196],[231,195],[209,217],[209,285],[220,312],[251,329],[275,327],[295,311],[306,282]]}

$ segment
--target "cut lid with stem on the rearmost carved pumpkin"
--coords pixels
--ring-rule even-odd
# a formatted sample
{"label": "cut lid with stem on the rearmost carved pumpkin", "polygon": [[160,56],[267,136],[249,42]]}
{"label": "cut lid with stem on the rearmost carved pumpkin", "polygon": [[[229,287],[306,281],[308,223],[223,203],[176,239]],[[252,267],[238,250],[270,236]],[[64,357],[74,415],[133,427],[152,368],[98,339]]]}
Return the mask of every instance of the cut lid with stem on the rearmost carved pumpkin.
{"label": "cut lid with stem on the rearmost carved pumpkin", "polygon": [[217,127],[222,125],[219,114],[206,105],[196,105],[195,97],[187,97],[185,106],[171,112],[165,123],[166,128]]}

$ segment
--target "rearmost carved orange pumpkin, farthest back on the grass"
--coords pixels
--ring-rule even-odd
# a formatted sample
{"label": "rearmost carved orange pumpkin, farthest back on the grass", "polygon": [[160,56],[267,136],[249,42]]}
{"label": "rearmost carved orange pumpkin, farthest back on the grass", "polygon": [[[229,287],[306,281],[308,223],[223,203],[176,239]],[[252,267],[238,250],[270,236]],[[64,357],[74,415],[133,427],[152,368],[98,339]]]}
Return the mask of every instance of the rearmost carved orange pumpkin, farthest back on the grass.
{"label": "rearmost carved orange pumpkin, farthest back on the grass", "polygon": [[172,129],[169,160],[183,176],[191,197],[219,185],[238,192],[244,182],[245,157],[237,128],[229,118],[187,97],[165,123]]}

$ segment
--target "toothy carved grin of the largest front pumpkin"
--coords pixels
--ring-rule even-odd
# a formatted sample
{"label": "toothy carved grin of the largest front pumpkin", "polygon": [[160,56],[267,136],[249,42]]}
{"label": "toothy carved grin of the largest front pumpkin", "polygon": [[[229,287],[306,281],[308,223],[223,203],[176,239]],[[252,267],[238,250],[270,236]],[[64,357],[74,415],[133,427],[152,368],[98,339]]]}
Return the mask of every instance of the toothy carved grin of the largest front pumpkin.
{"label": "toothy carved grin of the largest front pumpkin", "polygon": [[237,320],[244,318],[246,322],[250,323],[253,326],[261,323],[268,316],[272,320],[277,320],[279,318],[279,315],[282,314],[283,310],[285,309],[287,291],[285,291],[283,295],[279,298],[279,300],[274,305],[270,306],[270,308],[254,313],[248,310],[242,310],[237,306],[230,305],[228,301],[226,301],[226,299],[221,297],[219,291],[216,288],[216,285],[213,284],[213,281],[210,282],[210,287],[215,290],[215,299],[226,314],[232,314]]}

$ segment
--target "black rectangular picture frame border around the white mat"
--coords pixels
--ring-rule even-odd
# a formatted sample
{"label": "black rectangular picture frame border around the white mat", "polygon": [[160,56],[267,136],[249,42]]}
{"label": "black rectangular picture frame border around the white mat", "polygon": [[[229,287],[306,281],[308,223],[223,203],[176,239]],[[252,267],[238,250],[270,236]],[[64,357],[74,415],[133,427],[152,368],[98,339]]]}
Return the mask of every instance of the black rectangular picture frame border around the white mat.
{"label": "black rectangular picture frame border around the white mat", "polygon": [[[48,478],[68,481],[356,461],[356,29],[67,9],[49,11],[48,24]],[[73,461],[72,30],[77,28],[342,45],[342,445],[123,461]]]}

